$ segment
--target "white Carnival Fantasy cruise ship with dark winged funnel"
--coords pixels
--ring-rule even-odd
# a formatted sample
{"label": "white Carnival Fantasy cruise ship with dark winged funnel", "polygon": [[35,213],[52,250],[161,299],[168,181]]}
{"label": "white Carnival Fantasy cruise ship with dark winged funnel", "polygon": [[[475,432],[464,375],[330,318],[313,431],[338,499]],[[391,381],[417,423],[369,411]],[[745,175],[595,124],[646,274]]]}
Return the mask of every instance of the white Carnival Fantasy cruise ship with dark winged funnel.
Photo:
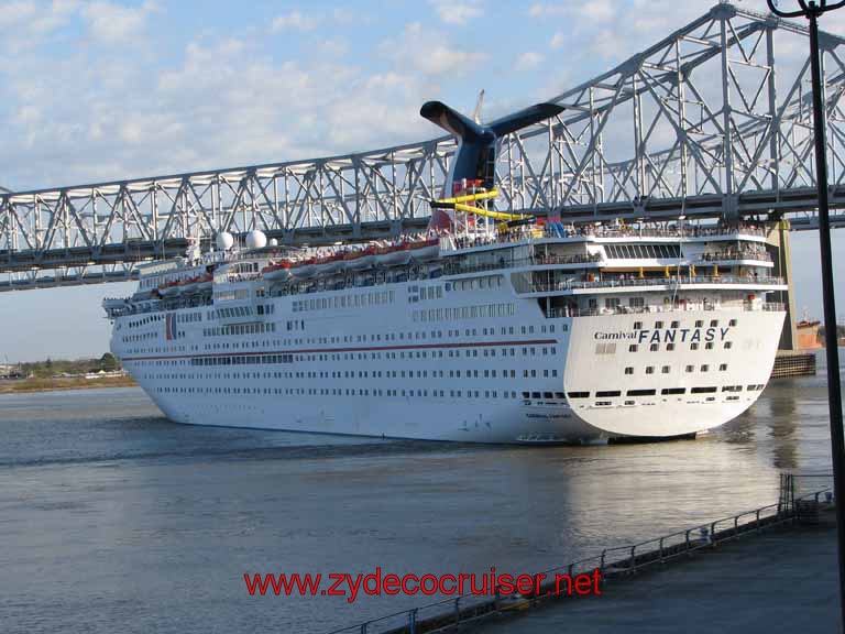
{"label": "white Carnival Fantasy cruise ship with dark winged funnel", "polygon": [[492,210],[497,140],[559,111],[482,125],[427,103],[460,145],[426,233],[293,250],[220,232],[105,302],[112,352],[196,425],[535,445],[723,425],[765,387],[786,314],[765,227]]}

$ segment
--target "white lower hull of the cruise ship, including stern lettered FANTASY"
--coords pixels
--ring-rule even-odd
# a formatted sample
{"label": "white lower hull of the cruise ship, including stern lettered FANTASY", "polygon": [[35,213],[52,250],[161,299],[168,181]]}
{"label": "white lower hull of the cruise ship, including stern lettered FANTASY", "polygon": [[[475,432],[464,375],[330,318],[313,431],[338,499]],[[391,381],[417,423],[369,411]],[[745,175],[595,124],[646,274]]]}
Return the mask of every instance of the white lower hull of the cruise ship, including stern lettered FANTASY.
{"label": "white lower hull of the cruise ship, including stern lettered FANTASY", "polygon": [[[287,340],[270,340],[283,345],[250,351],[257,362],[242,368],[206,365],[202,359],[218,352],[113,350],[177,423],[464,442],[591,444],[690,436],[740,415],[768,381],[784,315],[687,310],[547,319],[538,313],[536,303],[525,302],[511,319],[436,330],[442,337],[429,336],[425,343],[417,338],[406,343],[404,336],[400,343],[395,334],[387,336],[389,342],[307,349],[294,348],[295,340],[287,348]],[[347,329],[338,326],[327,323],[323,331],[315,326],[314,340],[342,341],[332,334],[350,331],[349,323]],[[367,326],[363,338],[369,341],[375,335]],[[406,326],[410,331],[415,325]],[[417,328],[408,338],[419,334]],[[693,338],[700,349],[691,351]],[[676,343],[672,350],[668,339]],[[660,343],[652,351],[654,341]],[[615,343],[613,353],[610,343]],[[282,353],[294,362],[263,363]],[[238,362],[243,359],[249,357]],[[198,361],[202,364],[190,365]],[[178,370],[162,371],[157,363]],[[177,386],[172,376],[187,380]],[[676,393],[663,394],[667,387]]]}

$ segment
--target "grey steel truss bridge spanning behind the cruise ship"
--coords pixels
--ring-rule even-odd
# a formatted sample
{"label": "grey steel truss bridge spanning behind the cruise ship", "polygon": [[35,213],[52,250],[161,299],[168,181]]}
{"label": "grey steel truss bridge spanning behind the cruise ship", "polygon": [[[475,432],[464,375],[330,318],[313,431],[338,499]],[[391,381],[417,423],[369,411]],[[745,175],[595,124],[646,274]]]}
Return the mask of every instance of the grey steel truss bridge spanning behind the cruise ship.
{"label": "grey steel truss bridge spanning behind the cruise ship", "polygon": [[[816,227],[808,31],[729,3],[555,96],[508,135],[497,209],[567,222],[786,218]],[[845,207],[843,40],[822,33],[831,205]],[[778,63],[776,51],[784,50]],[[795,52],[799,52],[798,54]],[[0,289],[131,278],[187,239],[254,228],[286,244],[420,230],[452,138],[372,152],[0,192]],[[845,226],[845,212],[834,212]]]}

